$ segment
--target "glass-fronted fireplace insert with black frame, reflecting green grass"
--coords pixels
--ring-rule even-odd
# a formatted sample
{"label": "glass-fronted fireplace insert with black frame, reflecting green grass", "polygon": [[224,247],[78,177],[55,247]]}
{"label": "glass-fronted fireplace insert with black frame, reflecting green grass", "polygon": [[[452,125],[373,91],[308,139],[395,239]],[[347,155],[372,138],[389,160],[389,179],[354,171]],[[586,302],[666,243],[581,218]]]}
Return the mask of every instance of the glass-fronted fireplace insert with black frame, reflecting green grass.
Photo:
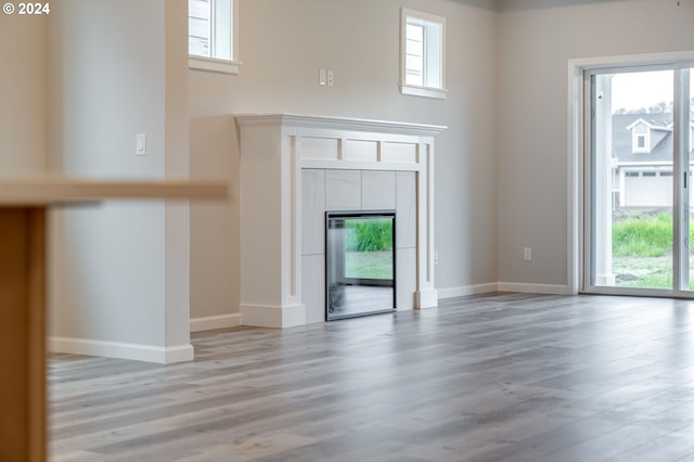
{"label": "glass-fronted fireplace insert with black frame, reflecting green grass", "polygon": [[395,210],[325,214],[325,320],[396,309]]}

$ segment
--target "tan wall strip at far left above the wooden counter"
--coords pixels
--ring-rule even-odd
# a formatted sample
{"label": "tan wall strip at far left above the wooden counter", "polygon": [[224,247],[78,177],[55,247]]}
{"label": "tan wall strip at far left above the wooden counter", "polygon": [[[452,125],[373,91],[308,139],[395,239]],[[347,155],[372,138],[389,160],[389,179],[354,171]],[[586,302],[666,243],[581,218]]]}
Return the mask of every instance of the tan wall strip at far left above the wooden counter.
{"label": "tan wall strip at far left above the wooden counter", "polygon": [[46,168],[44,24],[0,14],[0,175]]}

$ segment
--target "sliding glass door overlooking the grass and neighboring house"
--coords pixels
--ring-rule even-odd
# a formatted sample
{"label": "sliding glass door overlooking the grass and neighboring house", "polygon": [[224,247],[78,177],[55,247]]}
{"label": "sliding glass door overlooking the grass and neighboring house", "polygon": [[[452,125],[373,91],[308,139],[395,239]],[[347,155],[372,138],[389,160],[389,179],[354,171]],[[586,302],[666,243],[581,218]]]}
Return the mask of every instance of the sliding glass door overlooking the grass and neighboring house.
{"label": "sliding glass door overlooking the grass and neighboring house", "polygon": [[586,73],[587,292],[691,295],[690,74],[674,64]]}

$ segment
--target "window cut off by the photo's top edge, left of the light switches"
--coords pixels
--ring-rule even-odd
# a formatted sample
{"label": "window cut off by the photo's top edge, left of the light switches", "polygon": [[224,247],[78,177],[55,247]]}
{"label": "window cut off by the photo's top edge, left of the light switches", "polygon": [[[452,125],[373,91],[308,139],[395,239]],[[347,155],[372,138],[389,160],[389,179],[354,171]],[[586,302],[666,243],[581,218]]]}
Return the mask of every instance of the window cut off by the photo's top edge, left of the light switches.
{"label": "window cut off by the photo's top edge, left of the light switches", "polygon": [[188,0],[189,67],[237,74],[234,0]]}

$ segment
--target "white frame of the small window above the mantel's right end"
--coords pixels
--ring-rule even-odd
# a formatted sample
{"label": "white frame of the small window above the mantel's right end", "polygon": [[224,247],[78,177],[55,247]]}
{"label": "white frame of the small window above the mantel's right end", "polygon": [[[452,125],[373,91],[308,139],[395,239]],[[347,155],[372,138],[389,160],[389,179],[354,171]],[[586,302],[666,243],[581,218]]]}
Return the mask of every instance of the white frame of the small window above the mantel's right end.
{"label": "white frame of the small window above the mantel's right end", "polygon": [[[423,85],[408,82],[408,25],[417,25],[424,30]],[[407,8],[400,9],[400,92],[446,99],[446,17]]]}

